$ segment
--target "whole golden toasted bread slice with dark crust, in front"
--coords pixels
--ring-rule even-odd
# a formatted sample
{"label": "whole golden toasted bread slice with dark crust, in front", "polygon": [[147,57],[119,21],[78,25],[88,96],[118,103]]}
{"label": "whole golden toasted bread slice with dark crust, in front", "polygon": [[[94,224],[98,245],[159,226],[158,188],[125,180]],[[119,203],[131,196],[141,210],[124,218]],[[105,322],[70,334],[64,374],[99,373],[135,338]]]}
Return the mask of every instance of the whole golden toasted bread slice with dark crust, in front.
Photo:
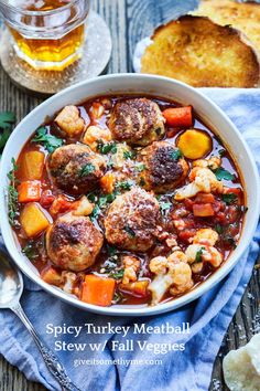
{"label": "whole golden toasted bread slice with dark crust, in front", "polygon": [[256,87],[259,60],[241,33],[208,18],[184,15],[158,28],[141,72],[177,78],[195,87]]}

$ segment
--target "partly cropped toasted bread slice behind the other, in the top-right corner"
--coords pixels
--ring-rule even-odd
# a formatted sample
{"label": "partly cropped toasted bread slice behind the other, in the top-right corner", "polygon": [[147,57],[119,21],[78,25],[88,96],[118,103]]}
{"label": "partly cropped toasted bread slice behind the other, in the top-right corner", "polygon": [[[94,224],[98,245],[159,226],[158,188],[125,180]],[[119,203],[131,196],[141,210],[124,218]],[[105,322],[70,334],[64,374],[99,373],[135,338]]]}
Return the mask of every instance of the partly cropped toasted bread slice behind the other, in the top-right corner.
{"label": "partly cropped toasted bread slice behind the other, in the top-right corner", "polygon": [[242,31],[260,52],[260,4],[232,0],[203,0],[193,15],[210,18],[215,23]]}

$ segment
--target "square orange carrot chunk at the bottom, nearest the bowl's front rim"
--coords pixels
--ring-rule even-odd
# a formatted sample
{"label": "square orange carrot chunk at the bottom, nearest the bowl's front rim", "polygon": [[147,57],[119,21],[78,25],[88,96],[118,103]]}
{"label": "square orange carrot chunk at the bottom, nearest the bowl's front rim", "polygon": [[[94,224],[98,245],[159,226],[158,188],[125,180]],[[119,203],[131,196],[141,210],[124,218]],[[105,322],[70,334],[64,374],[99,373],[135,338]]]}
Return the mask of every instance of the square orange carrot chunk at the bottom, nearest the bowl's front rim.
{"label": "square orange carrot chunk at the bottom, nearest the bowl's front rim", "polygon": [[110,306],[113,298],[116,281],[87,274],[83,283],[80,300],[96,306]]}

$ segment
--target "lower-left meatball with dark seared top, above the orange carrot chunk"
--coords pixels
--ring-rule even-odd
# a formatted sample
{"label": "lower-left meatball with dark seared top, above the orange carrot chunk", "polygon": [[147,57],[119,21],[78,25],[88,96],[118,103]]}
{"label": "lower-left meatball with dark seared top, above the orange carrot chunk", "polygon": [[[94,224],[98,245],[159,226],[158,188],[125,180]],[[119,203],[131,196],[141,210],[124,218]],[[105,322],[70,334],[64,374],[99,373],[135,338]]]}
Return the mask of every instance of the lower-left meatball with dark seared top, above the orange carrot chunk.
{"label": "lower-left meatball with dark seared top, above the orange carrot chunk", "polygon": [[46,233],[46,250],[58,267],[82,272],[91,266],[102,246],[101,232],[87,216],[66,213]]}

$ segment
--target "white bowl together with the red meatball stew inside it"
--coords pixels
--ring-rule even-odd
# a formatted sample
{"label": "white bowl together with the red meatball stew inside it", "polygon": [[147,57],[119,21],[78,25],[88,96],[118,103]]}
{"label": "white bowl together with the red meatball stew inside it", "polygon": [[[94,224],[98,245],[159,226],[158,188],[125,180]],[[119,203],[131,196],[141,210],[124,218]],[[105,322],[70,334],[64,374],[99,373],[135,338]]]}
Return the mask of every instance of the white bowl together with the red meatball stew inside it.
{"label": "white bowl together with the red meatball stew inside it", "polygon": [[237,264],[259,215],[252,156],[191,86],[108,75],[42,103],[1,160],[1,231],[21,271],[80,309],[151,315]]}

